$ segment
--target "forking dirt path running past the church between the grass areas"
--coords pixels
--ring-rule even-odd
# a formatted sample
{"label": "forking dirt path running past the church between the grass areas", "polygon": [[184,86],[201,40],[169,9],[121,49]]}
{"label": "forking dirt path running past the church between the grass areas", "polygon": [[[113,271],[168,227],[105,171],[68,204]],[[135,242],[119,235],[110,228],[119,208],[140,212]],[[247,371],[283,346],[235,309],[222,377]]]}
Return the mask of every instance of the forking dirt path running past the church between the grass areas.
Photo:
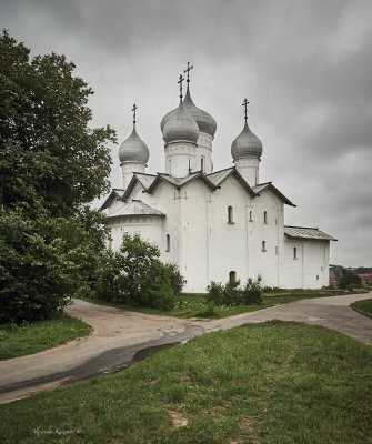
{"label": "forking dirt path running past the church between the grass areas", "polygon": [[349,307],[370,294],[302,300],[222,320],[197,321],[127,312],[76,301],[71,316],[92,326],[89,336],[33,355],[0,362],[0,404],[94,375],[111,373],[149,346],[185,341],[204,332],[269,320],[323,325],[372,344],[372,320]]}

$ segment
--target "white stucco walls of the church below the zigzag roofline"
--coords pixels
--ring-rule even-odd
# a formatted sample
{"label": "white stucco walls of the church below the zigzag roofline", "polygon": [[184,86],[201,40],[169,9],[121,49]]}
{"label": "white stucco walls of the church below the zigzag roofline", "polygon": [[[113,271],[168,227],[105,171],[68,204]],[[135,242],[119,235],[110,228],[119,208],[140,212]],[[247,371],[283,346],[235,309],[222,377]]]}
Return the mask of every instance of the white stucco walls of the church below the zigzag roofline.
{"label": "white stucco walls of the church below the zigzag roofline", "polygon": [[[284,204],[270,190],[253,199],[237,178],[229,175],[215,191],[200,179],[181,189],[161,182],[153,194],[143,192],[137,183],[131,199],[143,201],[165,216],[111,220],[112,249],[119,249],[123,231],[140,233],[159,246],[162,262],[179,264],[187,279],[185,292],[205,292],[212,280],[225,283],[231,271],[242,283],[260,274],[262,284],[269,286],[328,285],[329,242],[284,236]],[[112,203],[115,208],[117,204]],[[228,220],[229,206],[233,212],[232,223]]]}

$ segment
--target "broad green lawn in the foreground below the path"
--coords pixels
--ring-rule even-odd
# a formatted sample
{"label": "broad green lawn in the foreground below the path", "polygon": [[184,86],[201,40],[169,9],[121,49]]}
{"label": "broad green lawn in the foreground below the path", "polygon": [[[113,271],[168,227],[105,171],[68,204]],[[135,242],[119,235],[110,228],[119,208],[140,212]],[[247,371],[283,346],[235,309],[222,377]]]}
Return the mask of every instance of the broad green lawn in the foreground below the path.
{"label": "broad green lawn in the foreground below the path", "polygon": [[249,324],[2,405],[1,442],[368,444],[371,362],[328,329]]}

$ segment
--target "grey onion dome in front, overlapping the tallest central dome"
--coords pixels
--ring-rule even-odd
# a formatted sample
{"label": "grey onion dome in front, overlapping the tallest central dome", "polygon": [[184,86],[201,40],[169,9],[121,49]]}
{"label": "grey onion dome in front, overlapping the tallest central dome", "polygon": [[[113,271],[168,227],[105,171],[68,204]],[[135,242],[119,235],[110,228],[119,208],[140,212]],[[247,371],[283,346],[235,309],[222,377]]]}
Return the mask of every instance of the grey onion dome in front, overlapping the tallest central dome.
{"label": "grey onion dome in front, overlapping the tallest central dome", "polygon": [[185,112],[181,102],[175,110],[169,113],[162,133],[165,143],[179,141],[197,143],[199,128],[195,120]]}

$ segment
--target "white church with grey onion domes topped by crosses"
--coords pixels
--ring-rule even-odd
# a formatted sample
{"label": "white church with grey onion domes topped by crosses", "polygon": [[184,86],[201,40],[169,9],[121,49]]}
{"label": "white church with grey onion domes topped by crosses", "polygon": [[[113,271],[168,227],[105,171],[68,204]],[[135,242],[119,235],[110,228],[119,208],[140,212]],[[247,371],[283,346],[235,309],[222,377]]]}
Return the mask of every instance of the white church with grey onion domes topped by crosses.
{"label": "white church with grey onion domes topped by crosses", "polygon": [[135,130],[119,149],[122,188],[102,205],[119,250],[124,232],[157,244],[162,262],[175,262],[188,293],[204,293],[213,280],[262,276],[262,285],[320,289],[329,285],[330,241],[315,228],[284,225],[295,206],[272,182],[260,182],[262,142],[245,123],[232,141],[230,168],[213,171],[215,120],[198,108],[188,88],[161,120],[165,172],[149,174],[148,145]]}

